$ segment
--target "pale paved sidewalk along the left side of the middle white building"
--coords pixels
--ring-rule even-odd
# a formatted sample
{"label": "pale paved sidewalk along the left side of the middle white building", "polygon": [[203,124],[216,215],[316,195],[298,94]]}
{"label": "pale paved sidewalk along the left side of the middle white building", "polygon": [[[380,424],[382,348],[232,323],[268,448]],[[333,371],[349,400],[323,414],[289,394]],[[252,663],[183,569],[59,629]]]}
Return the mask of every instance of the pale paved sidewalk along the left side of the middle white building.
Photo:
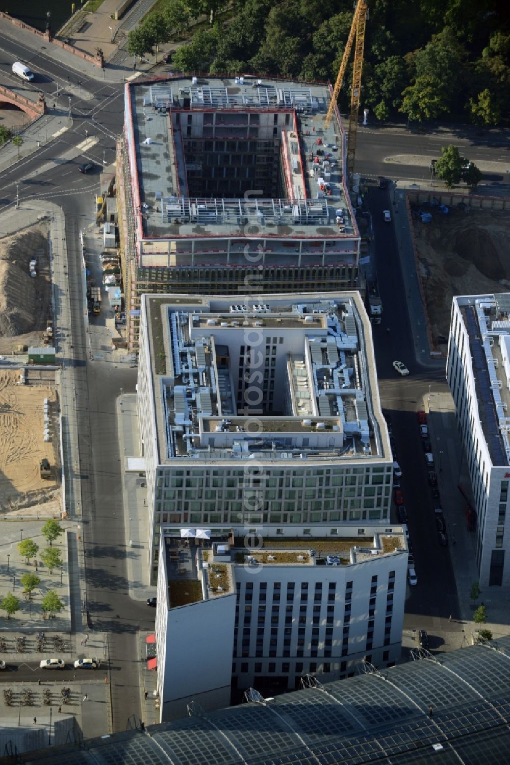
{"label": "pale paved sidewalk along the left side of the middle white building", "polygon": [[122,395],[118,399],[118,426],[120,453],[124,459],[122,490],[124,494],[126,549],[128,550],[129,597],[135,601],[145,601],[154,597],[156,588],[150,584],[148,554],[148,507],[145,478],[138,475],[138,470],[128,471],[129,457],[141,457],[138,438],[138,406],[135,393]]}

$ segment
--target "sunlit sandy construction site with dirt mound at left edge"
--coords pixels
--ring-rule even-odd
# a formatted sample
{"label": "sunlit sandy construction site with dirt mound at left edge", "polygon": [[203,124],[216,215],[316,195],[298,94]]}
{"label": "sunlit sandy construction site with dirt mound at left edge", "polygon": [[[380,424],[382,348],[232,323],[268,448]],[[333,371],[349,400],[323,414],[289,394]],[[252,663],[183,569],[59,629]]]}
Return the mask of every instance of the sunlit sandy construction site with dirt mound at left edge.
{"label": "sunlit sandy construction site with dirt mound at left edge", "polygon": [[[61,509],[58,390],[50,369],[23,366],[27,347],[44,344],[52,315],[48,226],[37,221],[23,228],[22,215],[2,226],[21,224],[21,230],[0,239],[0,354],[10,356],[10,368],[0,361],[0,516],[55,516]],[[11,354],[18,353],[21,366],[13,369]]]}

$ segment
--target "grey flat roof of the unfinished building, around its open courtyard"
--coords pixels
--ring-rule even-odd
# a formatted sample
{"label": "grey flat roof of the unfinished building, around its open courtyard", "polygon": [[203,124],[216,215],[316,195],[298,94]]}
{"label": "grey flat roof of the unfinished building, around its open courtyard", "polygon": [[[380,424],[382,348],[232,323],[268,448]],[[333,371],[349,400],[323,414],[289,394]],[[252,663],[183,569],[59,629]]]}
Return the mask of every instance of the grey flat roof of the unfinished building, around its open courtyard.
{"label": "grey flat roof of the unfinished building, around its open courtyard", "polygon": [[[325,124],[330,103],[328,85],[257,77],[197,80],[171,75],[127,83],[126,89],[126,129],[128,142],[136,147],[135,182],[143,210],[144,238],[359,239],[343,181],[343,129],[337,116],[330,125]],[[281,132],[283,155],[288,161],[287,185],[291,186],[288,198],[189,197],[178,119],[181,112],[213,115],[212,132],[206,132],[205,127],[200,135],[195,131],[197,139],[211,135],[214,141],[245,138],[255,142],[272,142],[273,123],[267,136],[261,126],[264,137],[252,138],[251,123],[243,115],[291,114]]]}

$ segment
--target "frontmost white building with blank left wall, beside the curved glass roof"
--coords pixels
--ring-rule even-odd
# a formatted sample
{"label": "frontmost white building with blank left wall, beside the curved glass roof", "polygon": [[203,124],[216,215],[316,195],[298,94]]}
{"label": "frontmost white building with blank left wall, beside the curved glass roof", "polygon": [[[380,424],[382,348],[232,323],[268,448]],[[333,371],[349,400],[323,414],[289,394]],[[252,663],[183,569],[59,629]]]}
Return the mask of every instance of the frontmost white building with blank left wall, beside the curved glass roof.
{"label": "frontmost white building with blank left wall, beside the curved glass roof", "polygon": [[[400,656],[408,551],[401,526],[313,527],[310,539],[161,535],[155,640],[161,721],[380,669]],[[236,698],[236,695],[234,696]]]}

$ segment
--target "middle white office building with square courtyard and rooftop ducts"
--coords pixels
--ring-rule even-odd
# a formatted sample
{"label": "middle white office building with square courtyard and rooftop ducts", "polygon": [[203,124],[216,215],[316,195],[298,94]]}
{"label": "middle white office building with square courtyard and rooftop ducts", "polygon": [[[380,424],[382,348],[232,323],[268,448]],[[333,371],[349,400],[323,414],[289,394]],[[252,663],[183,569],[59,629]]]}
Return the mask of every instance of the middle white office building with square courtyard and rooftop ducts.
{"label": "middle white office building with square courtyard and rooftop ducts", "polygon": [[358,292],[144,295],[140,326],[154,581],[164,529],[387,525],[393,463]]}

